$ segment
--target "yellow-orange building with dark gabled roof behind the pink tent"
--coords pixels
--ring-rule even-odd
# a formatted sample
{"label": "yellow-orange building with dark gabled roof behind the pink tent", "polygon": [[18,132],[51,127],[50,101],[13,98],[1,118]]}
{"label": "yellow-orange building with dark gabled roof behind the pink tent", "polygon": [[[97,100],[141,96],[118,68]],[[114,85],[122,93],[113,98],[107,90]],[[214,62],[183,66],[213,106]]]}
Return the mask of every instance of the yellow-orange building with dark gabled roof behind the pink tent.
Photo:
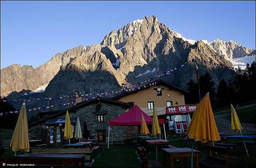
{"label": "yellow-orange building with dark gabled roof behind the pink tent", "polygon": [[[111,99],[136,104],[149,116],[153,116],[154,107],[157,115],[165,115],[166,107],[185,105],[184,93],[188,93],[187,90],[160,79],[147,84],[149,87],[144,88],[142,85],[140,90],[124,91]],[[127,89],[129,90],[129,88]]]}

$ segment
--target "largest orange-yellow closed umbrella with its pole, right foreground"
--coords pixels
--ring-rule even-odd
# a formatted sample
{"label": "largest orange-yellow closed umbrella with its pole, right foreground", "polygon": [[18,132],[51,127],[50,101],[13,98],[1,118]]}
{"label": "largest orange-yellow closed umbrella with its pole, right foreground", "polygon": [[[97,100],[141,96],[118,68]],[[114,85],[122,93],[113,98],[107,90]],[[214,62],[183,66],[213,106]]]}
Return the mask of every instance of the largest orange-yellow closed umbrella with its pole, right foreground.
{"label": "largest orange-yellow closed umbrella with its pole, right foreground", "polygon": [[209,93],[197,105],[188,125],[186,135],[192,139],[191,167],[193,166],[194,140],[212,143],[220,140],[219,132],[212,113]]}

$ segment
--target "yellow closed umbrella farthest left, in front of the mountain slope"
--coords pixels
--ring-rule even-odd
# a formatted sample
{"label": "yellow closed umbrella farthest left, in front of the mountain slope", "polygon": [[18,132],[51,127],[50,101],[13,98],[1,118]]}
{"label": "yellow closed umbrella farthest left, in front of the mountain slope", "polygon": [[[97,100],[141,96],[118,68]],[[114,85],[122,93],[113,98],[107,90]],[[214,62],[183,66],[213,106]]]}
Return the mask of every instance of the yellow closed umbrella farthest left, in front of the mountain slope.
{"label": "yellow closed umbrella farthest left, in front of the mountain slope", "polygon": [[12,135],[10,147],[12,147],[15,155],[18,150],[23,150],[25,152],[29,151],[28,119],[25,103],[22,104],[20,109],[19,118]]}

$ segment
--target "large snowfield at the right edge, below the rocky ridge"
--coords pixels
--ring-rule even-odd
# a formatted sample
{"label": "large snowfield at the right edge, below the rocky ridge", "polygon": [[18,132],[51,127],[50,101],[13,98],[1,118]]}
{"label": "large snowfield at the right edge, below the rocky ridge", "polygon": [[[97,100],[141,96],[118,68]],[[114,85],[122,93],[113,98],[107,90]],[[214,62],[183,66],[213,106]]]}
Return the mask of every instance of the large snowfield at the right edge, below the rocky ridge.
{"label": "large snowfield at the right edge, below the rocky ridge", "polygon": [[230,61],[233,64],[234,68],[238,68],[239,66],[241,69],[245,69],[247,63],[251,66],[252,62],[255,61],[255,54],[249,57],[245,56],[242,58],[228,59],[228,61]]}

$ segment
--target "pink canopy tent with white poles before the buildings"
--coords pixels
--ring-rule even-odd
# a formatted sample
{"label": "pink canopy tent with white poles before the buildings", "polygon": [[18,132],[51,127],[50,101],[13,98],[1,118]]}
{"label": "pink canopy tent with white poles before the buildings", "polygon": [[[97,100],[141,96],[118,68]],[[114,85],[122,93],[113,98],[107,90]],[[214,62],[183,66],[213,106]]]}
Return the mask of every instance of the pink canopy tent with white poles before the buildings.
{"label": "pink canopy tent with white poles before the buildings", "polygon": [[[118,116],[112,120],[109,120],[108,125],[140,125],[141,124],[141,114],[144,116],[146,124],[152,125],[153,118],[148,116],[144,111],[142,111],[137,105],[133,106],[129,111]],[[159,124],[164,124],[164,119],[158,120]],[[108,126],[108,144],[109,144],[109,127]],[[165,129],[164,129],[165,135]],[[165,136],[166,140],[166,136]],[[112,135],[113,142],[113,135]]]}

